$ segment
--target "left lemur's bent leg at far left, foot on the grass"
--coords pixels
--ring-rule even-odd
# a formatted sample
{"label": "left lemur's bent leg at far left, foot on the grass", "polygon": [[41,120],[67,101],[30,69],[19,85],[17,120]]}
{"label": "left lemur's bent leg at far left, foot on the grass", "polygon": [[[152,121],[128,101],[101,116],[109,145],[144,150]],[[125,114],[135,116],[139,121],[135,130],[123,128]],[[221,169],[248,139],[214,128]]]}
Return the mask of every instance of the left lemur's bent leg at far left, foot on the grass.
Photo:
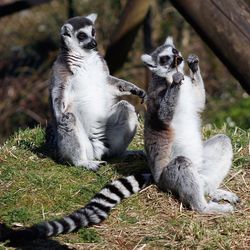
{"label": "left lemur's bent leg at far left, foot on the grass", "polygon": [[75,166],[97,170],[101,162],[93,161],[94,151],[84,128],[73,113],[62,115],[57,124],[57,147],[60,157]]}

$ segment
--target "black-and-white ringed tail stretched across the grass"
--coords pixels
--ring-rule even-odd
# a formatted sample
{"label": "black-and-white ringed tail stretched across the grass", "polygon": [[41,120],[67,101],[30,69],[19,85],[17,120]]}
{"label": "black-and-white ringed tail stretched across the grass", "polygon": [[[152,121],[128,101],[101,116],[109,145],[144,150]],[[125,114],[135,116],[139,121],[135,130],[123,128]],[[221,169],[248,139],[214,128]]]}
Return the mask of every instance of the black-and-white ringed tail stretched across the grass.
{"label": "black-and-white ringed tail stretched across the grass", "polygon": [[104,221],[110,210],[151,183],[151,174],[136,174],[107,184],[90,202],[62,219],[42,222],[29,228],[14,230],[0,224],[0,242],[27,242],[77,231]]}

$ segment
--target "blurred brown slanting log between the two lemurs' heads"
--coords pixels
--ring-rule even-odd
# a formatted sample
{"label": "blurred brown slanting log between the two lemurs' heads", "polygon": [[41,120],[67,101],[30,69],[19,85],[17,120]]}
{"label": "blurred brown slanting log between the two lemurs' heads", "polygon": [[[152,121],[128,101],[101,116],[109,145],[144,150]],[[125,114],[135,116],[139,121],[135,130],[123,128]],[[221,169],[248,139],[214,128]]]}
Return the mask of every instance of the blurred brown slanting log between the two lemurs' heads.
{"label": "blurred brown slanting log between the two lemurs' heads", "polygon": [[136,34],[150,7],[150,0],[129,0],[115,27],[105,59],[111,73],[118,70],[127,58]]}

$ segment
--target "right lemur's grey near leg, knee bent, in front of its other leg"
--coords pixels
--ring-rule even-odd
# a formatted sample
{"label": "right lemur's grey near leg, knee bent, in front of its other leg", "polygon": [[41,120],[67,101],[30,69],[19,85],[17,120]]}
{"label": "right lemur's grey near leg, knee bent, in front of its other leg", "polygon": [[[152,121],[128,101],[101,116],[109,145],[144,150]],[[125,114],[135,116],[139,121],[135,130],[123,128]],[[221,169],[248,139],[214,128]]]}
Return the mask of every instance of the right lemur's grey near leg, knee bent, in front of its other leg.
{"label": "right lemur's grey near leg, knee bent, in front of its other leg", "polygon": [[192,210],[201,213],[233,212],[230,204],[206,201],[200,176],[186,157],[176,157],[163,169],[158,186],[164,191],[172,192]]}

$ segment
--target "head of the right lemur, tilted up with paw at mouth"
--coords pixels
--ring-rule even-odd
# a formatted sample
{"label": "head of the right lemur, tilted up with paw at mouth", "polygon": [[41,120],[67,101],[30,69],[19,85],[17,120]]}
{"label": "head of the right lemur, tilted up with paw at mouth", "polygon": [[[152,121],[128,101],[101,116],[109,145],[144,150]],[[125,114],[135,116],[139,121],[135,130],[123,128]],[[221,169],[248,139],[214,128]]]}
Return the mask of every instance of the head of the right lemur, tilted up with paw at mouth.
{"label": "head of the right lemur, tilted up with paw at mouth", "polygon": [[175,48],[172,37],[168,37],[151,55],[142,55],[141,59],[152,72],[161,77],[174,73],[176,67],[180,70],[183,68],[183,58]]}

